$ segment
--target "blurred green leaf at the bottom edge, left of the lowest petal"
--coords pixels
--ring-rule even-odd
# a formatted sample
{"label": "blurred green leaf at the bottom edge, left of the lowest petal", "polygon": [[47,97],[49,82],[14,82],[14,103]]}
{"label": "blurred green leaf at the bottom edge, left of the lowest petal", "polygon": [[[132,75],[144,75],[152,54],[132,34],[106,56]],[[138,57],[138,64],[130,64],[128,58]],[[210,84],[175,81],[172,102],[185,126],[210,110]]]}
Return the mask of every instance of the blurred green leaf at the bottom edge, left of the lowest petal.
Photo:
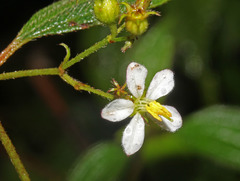
{"label": "blurred green leaf at the bottom edge, left of the lowest petal", "polygon": [[68,180],[117,180],[126,163],[127,156],[124,155],[119,145],[101,143],[77,161]]}

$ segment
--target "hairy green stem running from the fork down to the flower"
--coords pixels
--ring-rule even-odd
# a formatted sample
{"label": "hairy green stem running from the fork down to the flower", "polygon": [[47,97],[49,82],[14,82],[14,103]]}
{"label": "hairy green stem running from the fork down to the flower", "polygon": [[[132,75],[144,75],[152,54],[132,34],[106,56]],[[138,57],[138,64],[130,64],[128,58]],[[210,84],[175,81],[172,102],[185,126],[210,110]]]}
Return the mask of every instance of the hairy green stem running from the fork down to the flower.
{"label": "hairy green stem running from the fork down to the flower", "polygon": [[93,87],[90,87],[89,85],[86,85],[74,78],[72,78],[71,76],[69,76],[68,74],[63,74],[61,75],[61,78],[67,82],[68,84],[70,84],[71,86],[73,86],[76,90],[85,90],[87,92],[92,92],[94,94],[100,95],[102,97],[105,97],[107,99],[114,99],[114,96],[112,94],[109,94],[107,92],[104,92],[102,90],[99,89],[95,89]]}

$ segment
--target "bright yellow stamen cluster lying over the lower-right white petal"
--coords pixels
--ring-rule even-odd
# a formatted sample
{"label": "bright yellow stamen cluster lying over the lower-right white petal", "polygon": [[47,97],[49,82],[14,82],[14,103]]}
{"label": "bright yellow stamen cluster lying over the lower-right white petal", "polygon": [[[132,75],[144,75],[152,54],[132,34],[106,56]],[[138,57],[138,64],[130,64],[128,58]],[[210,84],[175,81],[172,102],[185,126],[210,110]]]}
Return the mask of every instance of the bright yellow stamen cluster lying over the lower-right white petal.
{"label": "bright yellow stamen cluster lying over the lower-right white petal", "polygon": [[167,118],[169,121],[172,121],[170,117],[172,117],[172,114],[163,107],[160,103],[156,101],[152,101],[148,104],[146,104],[146,110],[157,120],[162,121],[160,116],[163,116]]}

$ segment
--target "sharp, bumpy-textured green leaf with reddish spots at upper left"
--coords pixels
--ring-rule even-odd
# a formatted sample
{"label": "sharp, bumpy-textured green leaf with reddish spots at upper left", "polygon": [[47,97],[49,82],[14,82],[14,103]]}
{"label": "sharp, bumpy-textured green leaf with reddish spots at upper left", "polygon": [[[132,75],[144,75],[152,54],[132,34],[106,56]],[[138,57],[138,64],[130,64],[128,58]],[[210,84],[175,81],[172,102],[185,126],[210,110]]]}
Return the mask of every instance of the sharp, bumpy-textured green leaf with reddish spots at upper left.
{"label": "sharp, bumpy-textured green leaf with reddish spots at upper left", "polygon": [[21,40],[89,28],[99,22],[92,0],[61,0],[35,13],[18,34]]}

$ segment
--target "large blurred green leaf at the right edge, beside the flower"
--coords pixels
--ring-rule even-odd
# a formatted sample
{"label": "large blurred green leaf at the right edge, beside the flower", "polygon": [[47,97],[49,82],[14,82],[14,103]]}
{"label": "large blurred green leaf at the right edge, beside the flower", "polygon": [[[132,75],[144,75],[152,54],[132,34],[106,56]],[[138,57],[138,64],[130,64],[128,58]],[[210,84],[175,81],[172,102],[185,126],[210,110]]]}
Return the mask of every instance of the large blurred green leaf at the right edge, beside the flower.
{"label": "large blurred green leaf at the right edge, beside the flower", "polygon": [[214,106],[184,122],[179,136],[197,153],[240,168],[240,108]]}

